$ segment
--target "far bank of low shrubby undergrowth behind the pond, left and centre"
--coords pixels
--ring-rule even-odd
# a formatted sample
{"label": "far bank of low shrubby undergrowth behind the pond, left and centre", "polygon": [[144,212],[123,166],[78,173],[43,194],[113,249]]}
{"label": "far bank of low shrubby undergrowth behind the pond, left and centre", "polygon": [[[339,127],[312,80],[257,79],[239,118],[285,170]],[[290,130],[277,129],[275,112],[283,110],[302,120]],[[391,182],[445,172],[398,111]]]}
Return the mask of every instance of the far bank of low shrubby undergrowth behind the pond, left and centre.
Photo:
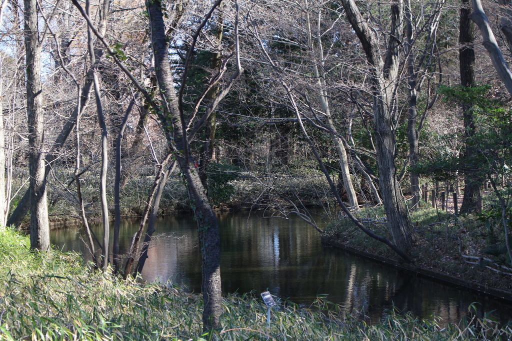
{"label": "far bank of low shrubby undergrowth behind the pond, left and centre", "polygon": [[[55,170],[54,170],[55,171]],[[148,170],[149,172],[150,170]],[[20,171],[21,172],[21,171]],[[74,179],[74,175],[69,174],[64,169],[58,169],[54,175],[59,179],[59,184],[70,183],[70,178]],[[25,174],[24,172],[22,172]],[[21,174],[21,173],[20,173]],[[210,203],[217,212],[239,211],[245,209],[267,210],[270,207],[283,208],[289,206],[290,203],[281,199],[269,196],[266,193],[267,187],[255,175],[240,173],[238,177],[229,180],[221,189],[214,183],[210,184]],[[95,174],[86,173],[82,175],[82,181],[89,186],[82,187],[82,197],[84,199],[84,208],[90,223],[102,220],[102,211],[100,206],[99,189],[97,187],[97,179]],[[23,180],[24,176],[16,177],[13,181],[13,188],[18,189],[17,195],[11,202],[10,213],[14,212],[19,200],[23,197],[28,189],[28,184]],[[263,178],[262,178],[263,179]],[[109,173],[107,185],[107,197],[109,198],[110,216],[114,217],[114,193],[113,193],[113,172]],[[131,219],[140,217],[144,211],[147,195],[152,188],[154,176],[139,176],[130,178],[127,184],[121,190],[120,210],[123,219]],[[283,193],[290,194],[294,198],[295,195],[301,198],[301,202],[295,202],[306,207],[322,206],[328,198],[325,197],[325,191],[328,188],[327,181],[318,174],[305,174],[303,172],[295,174],[291,179],[280,178],[275,180],[272,178],[273,186],[279,188]],[[55,185],[55,184],[54,184]],[[48,187],[48,209],[49,219],[52,227],[60,227],[63,225],[73,225],[81,223],[80,207],[73,191],[70,188],[62,188],[60,186]],[[183,179],[179,174],[174,173],[169,177],[162,192],[160,206],[158,210],[159,216],[169,214],[187,214],[192,213],[189,204],[189,196],[183,184]],[[28,228],[30,223],[29,214],[27,214],[19,226],[22,229]]]}

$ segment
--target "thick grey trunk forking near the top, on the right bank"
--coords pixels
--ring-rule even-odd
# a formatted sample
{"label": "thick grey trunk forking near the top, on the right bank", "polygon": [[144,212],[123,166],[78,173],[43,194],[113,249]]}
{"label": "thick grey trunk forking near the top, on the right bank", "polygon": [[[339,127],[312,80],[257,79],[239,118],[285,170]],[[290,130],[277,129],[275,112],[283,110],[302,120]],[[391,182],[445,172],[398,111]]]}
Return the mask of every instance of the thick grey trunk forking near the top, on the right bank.
{"label": "thick grey trunk forking near the top, on the right bank", "polygon": [[379,51],[378,38],[362,17],[354,0],[342,0],[342,3],[347,18],[357,34],[371,65],[370,77],[379,187],[388,217],[388,226],[396,246],[408,251],[412,246],[414,236],[412,224],[401,194],[400,184],[397,180],[395,130],[392,117],[394,88],[398,83],[398,47],[400,41],[397,37],[401,35],[402,4],[401,2],[393,2],[391,5],[393,24],[386,60],[383,61]]}

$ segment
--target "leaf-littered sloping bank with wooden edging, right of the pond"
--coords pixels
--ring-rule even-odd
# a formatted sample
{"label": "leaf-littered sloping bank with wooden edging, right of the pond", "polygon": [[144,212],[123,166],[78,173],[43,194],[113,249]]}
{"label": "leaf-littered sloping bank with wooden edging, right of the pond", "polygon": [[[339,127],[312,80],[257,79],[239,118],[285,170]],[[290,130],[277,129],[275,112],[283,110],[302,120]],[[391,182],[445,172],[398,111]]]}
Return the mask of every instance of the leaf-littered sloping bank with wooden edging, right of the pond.
{"label": "leaf-littered sloping bank with wooden edging, right of the pond", "polygon": [[[382,216],[378,210],[373,215],[359,213],[372,230],[391,239]],[[412,264],[402,264],[391,249],[367,237],[343,216],[329,225],[323,241],[424,277],[512,301],[512,272],[504,255],[493,253],[496,247],[491,247],[500,239],[499,231],[489,231],[474,215],[456,216],[430,208],[411,212],[411,218],[416,233]]]}

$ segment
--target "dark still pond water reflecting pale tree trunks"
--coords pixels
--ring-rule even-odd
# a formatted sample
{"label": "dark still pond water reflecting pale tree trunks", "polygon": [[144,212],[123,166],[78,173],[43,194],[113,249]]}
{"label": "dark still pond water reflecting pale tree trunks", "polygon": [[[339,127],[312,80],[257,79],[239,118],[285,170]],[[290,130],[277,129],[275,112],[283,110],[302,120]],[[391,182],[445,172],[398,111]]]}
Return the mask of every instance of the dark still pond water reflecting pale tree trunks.
{"label": "dark still pond water reflecting pale tree trunks", "polygon": [[[255,213],[218,216],[221,231],[221,276],[224,292],[272,294],[303,307],[317,295],[347,311],[364,311],[375,323],[392,305],[419,317],[436,315],[445,322],[459,322],[468,307],[478,302],[478,314],[489,313],[501,322],[512,318],[512,305],[415,277],[323,245],[316,230],[297,217],[269,218]],[[321,225],[321,219],[317,219]],[[138,221],[121,225],[120,251],[126,252]],[[99,226],[96,227],[100,233]],[[112,233],[111,233],[112,235]],[[201,255],[196,222],[190,216],[158,220],[149,258],[142,271],[148,281],[185,285],[200,292]],[[52,243],[64,251],[87,249],[78,228],[51,233]]]}

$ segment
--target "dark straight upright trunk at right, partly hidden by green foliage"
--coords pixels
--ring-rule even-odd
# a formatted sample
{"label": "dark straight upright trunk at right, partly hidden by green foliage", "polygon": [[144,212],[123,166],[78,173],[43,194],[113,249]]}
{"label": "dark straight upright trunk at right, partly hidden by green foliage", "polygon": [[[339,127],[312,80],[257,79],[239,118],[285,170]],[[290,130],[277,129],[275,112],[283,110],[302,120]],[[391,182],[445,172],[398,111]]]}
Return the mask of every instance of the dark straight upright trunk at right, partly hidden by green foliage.
{"label": "dark straight upright trunk at right, partly hidden by green foliage", "polygon": [[[459,28],[459,65],[460,82],[462,86],[472,87],[476,85],[475,77],[475,50],[473,50],[473,41],[475,39],[475,29],[470,19],[471,9],[469,0],[462,0],[460,9],[460,28]],[[465,139],[470,140],[475,135],[475,120],[473,118],[473,106],[471,103],[462,105],[462,115],[464,117],[464,135]],[[465,157],[472,157],[476,152],[471,144],[466,143]],[[467,174],[464,179],[464,196],[460,213],[476,212],[478,210],[478,198],[480,197],[480,185],[478,177]]]}

